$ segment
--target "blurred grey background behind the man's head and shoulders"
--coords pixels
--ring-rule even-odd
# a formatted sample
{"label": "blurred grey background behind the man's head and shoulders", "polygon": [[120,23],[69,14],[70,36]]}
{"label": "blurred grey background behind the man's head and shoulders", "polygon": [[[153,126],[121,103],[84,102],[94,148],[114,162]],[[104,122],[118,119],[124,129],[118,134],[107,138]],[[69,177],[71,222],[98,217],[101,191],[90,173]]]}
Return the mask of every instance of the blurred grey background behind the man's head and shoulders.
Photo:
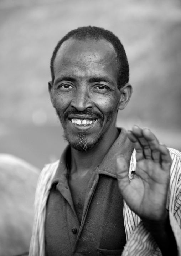
{"label": "blurred grey background behind the man's head and shoulders", "polygon": [[181,150],[181,1],[0,0],[0,153],[39,169],[60,157],[50,58],[68,31],[87,25],[114,32],[128,55],[133,95],[117,125],[150,127]]}

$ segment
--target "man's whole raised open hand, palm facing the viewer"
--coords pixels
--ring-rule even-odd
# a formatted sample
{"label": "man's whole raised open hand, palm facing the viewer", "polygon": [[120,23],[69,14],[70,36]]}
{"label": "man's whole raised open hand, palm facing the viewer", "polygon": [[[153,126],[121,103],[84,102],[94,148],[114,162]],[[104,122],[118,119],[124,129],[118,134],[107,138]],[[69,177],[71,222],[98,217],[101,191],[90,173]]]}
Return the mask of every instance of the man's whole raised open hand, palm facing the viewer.
{"label": "man's whole raised open hand, palm facing the viewer", "polygon": [[117,178],[121,193],[130,209],[142,219],[164,221],[169,188],[171,157],[148,129],[133,126],[128,138],[136,150],[136,171],[129,181],[123,157],[117,159]]}

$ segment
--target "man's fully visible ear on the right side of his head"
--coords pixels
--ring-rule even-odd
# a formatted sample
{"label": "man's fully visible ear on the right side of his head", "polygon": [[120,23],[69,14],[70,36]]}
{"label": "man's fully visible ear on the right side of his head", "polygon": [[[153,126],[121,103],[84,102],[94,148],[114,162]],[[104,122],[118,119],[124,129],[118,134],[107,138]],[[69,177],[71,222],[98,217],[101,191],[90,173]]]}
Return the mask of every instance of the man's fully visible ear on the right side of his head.
{"label": "man's fully visible ear on the right side of his head", "polygon": [[125,86],[123,86],[120,89],[120,101],[119,101],[119,109],[123,110],[126,105],[128,104],[130,98],[131,98],[131,94],[132,94],[132,86],[130,85],[130,83],[126,83]]}

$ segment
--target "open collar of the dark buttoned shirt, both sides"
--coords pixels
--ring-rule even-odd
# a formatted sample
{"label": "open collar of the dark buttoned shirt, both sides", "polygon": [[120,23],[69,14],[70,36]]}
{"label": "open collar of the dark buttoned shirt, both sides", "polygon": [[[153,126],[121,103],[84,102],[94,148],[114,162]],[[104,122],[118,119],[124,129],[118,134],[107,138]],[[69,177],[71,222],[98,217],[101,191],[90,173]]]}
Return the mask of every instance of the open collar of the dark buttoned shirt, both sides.
{"label": "open collar of the dark buttoned shirt, both sides", "polygon": [[[124,128],[117,128],[117,129],[119,131],[119,136],[115,140],[113,145],[110,147],[102,163],[99,165],[98,167],[99,173],[104,171],[105,174],[115,176],[116,175],[116,159],[117,157],[119,157],[119,155],[124,156],[124,158],[126,159],[126,162],[128,163],[128,169],[129,169],[131,154],[133,153],[133,144],[128,139],[126,130]],[[66,182],[68,171],[69,171],[66,159],[70,156],[70,154],[71,154],[70,146],[67,145],[67,147],[64,149],[61,155],[58,168],[52,180],[52,184],[57,183],[60,180],[64,180]]]}

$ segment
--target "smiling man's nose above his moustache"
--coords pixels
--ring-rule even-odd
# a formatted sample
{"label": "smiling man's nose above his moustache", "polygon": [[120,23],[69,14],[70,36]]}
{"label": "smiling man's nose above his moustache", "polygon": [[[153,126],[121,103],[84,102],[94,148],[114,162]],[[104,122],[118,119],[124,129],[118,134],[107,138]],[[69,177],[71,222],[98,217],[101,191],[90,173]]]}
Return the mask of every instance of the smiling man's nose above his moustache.
{"label": "smiling man's nose above his moustache", "polygon": [[77,89],[71,101],[71,107],[78,111],[84,111],[87,108],[93,107],[93,102],[90,98],[89,92],[86,89]]}

